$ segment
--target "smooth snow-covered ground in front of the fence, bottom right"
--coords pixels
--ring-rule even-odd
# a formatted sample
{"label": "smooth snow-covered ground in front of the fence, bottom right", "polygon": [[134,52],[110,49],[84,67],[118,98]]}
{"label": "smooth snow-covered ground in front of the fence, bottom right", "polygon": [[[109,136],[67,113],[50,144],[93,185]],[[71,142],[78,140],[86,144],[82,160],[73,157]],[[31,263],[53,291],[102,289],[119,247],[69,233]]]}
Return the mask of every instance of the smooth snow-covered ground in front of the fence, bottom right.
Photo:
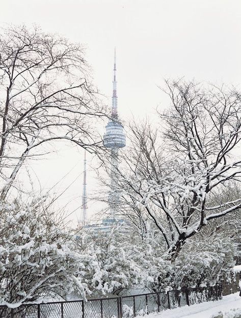
{"label": "smooth snow-covered ground in front of the fence, bottom right", "polygon": [[218,301],[204,302],[192,306],[165,310],[160,313],[152,313],[146,316],[146,318],[211,318],[213,314],[219,311],[225,313],[229,309],[235,308],[241,309],[241,297],[239,293],[224,296],[222,300]]}

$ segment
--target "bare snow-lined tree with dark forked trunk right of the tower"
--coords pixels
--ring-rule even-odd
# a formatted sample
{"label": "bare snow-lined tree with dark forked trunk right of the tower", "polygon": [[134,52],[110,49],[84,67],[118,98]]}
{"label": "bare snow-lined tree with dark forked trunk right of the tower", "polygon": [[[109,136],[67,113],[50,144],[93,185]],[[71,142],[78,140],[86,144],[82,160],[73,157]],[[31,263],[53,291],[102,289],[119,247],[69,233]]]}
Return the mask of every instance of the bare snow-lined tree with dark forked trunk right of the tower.
{"label": "bare snow-lined tree with dark forked trunk right of the tower", "polygon": [[241,100],[239,92],[224,86],[166,84],[171,106],[159,114],[160,127],[132,125],[116,191],[122,191],[133,217],[149,217],[175,258],[210,220],[241,208],[240,195],[215,205],[212,199],[227,183],[240,182],[241,160],[235,154]]}

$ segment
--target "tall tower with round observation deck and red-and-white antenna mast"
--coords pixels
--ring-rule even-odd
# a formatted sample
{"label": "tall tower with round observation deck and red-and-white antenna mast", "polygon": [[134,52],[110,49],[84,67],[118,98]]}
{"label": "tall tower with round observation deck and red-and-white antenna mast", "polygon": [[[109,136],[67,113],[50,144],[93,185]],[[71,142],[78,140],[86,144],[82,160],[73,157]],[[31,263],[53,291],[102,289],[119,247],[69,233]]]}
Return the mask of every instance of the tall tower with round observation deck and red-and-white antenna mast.
{"label": "tall tower with round observation deck and red-and-white antenna mast", "polygon": [[118,151],[125,147],[125,133],[124,127],[118,120],[117,111],[117,81],[116,81],[116,48],[114,55],[114,78],[113,78],[113,94],[112,94],[112,111],[111,119],[105,126],[106,132],[104,134],[104,146],[111,150],[111,192],[109,196],[109,204],[111,214],[115,220],[116,204],[119,202],[119,195],[115,192],[115,183],[118,170]]}

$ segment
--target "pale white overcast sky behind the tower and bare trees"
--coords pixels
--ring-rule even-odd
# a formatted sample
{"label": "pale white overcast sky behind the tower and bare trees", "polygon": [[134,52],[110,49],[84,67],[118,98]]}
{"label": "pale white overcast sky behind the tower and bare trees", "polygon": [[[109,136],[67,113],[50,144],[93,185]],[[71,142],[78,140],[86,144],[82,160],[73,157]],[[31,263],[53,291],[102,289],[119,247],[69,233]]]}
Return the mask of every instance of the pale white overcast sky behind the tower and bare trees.
{"label": "pale white overcast sky behind the tower and bare trees", "polygon": [[[1,2],[0,21],[2,25],[36,23],[44,32],[84,43],[94,82],[110,105],[116,46],[118,106],[125,121],[168,106],[157,88],[164,78],[184,76],[240,86],[240,0],[8,0]],[[56,191],[79,177],[63,195],[62,204],[71,201],[69,212],[81,205],[83,151],[62,147],[31,169],[43,188],[72,169]],[[95,189],[92,172],[88,186]],[[90,204],[89,213],[96,210]],[[81,218],[80,209],[70,218],[76,222],[77,217]]]}

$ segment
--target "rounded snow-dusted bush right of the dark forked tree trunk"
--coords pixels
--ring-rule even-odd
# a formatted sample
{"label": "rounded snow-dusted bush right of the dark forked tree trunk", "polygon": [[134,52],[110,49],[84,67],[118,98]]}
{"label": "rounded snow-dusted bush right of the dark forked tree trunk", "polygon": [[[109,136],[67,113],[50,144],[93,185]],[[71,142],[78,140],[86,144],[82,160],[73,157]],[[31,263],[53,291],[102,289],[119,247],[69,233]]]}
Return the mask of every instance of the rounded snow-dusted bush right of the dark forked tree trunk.
{"label": "rounded snow-dusted bush right of the dark forked tree trunk", "polygon": [[183,246],[175,259],[176,287],[199,287],[215,285],[233,278],[234,257],[237,244],[222,235],[209,240],[193,239]]}

